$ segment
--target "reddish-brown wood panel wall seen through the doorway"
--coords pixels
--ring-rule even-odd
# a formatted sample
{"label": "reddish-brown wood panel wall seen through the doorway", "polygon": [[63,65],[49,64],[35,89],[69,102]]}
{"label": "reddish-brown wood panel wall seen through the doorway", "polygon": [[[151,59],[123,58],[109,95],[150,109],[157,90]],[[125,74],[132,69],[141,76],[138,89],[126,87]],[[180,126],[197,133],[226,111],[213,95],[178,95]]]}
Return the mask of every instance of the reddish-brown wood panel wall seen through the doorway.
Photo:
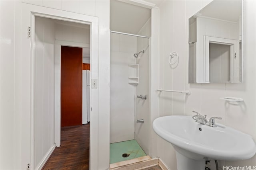
{"label": "reddish-brown wood panel wall seen through the doorway", "polygon": [[61,46],[61,127],[82,125],[82,48]]}

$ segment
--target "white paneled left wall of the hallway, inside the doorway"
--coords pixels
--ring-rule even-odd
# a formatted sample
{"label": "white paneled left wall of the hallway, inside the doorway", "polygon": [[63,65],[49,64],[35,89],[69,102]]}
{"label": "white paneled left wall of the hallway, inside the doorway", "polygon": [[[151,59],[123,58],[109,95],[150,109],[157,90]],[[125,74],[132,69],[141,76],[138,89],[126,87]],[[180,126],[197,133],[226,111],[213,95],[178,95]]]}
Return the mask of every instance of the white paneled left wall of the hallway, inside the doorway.
{"label": "white paneled left wall of the hallway, inside the doorway", "polygon": [[[55,23],[35,18],[35,164],[54,145],[54,54]],[[36,168],[37,169],[37,168]]]}

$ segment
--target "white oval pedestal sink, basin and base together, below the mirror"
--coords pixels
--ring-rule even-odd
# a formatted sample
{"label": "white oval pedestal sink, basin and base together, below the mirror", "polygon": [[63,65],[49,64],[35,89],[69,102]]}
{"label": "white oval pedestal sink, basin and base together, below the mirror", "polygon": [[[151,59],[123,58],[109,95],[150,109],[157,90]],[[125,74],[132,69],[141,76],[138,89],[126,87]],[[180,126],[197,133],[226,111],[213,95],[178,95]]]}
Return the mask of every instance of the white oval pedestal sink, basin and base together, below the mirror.
{"label": "white oval pedestal sink, basin and base together, below the mirror", "polygon": [[210,127],[191,116],[164,116],[153,129],[176,150],[178,170],[204,170],[206,160],[245,160],[254,156],[256,144],[250,135],[216,123]]}

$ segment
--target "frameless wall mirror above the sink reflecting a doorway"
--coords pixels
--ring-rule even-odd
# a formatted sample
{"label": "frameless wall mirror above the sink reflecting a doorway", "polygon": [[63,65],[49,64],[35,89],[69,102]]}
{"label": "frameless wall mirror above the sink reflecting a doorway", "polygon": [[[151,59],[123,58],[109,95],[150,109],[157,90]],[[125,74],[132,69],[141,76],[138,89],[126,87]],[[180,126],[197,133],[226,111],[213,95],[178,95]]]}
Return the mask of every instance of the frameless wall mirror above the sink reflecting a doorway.
{"label": "frameless wall mirror above the sink reflecting a doorway", "polygon": [[242,82],[242,0],[213,0],[189,18],[189,83]]}

